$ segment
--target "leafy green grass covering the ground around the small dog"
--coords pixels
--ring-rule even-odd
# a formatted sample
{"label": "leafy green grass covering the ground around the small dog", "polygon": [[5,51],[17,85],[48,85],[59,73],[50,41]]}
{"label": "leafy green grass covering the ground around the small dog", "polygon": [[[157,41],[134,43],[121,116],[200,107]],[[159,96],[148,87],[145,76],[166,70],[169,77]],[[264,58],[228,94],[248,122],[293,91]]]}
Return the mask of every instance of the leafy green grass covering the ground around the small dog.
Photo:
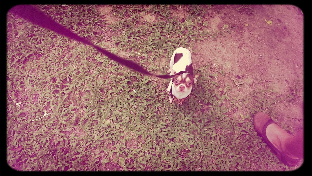
{"label": "leafy green grass covering the ground around the small dog", "polygon": [[[38,7],[78,35],[104,48],[107,42],[112,52],[129,53],[163,74],[174,49],[192,50],[193,42],[235,28],[209,29],[206,5],[183,6],[184,21],[173,15],[179,5],[114,5],[111,15],[119,21],[112,24],[101,20],[95,5]],[[155,16],[154,22],[142,14]],[[217,80],[224,71],[207,65],[195,70],[201,76],[192,98],[170,104],[167,82],[11,14],[7,28],[7,162],[14,169],[291,169],[253,128],[257,111],[274,116],[270,89],[230,97],[232,87]],[[238,108],[246,113],[231,119]]]}

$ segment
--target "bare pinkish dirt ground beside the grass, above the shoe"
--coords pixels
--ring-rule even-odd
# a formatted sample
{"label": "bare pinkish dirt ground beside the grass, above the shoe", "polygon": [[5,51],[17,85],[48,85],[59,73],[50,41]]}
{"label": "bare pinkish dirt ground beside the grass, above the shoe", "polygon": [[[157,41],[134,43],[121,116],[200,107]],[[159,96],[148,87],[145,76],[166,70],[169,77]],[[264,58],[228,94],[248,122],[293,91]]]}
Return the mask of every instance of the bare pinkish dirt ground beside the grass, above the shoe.
{"label": "bare pinkish dirt ground beside the grass, above the shoe", "polygon": [[[259,89],[261,81],[278,95],[285,95],[298,81],[302,88],[300,97],[294,103],[280,102],[276,109],[278,123],[289,124],[296,133],[303,129],[303,13],[292,5],[251,5],[254,12],[248,15],[248,9],[237,11],[239,7],[211,6],[207,18],[210,25],[221,29],[224,24],[230,24],[237,29],[217,37],[217,41],[195,45],[198,53],[192,56],[193,65],[215,63],[232,78],[244,82],[241,89],[231,90],[233,96]],[[269,20],[272,25],[266,22]]]}

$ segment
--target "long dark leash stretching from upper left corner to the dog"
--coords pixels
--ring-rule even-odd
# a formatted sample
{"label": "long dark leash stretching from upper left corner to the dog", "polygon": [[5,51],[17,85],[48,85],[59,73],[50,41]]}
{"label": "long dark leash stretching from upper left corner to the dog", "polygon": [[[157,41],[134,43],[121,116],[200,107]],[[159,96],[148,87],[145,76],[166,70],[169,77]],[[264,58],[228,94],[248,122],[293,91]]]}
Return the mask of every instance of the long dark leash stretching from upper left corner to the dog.
{"label": "long dark leash stretching from upper left corner to the dog", "polygon": [[124,58],[121,58],[113,53],[110,53],[106,51],[105,49],[102,49],[95,44],[92,44],[89,40],[84,39],[82,37],[79,37],[75,33],[71,32],[70,30],[66,29],[64,26],[58,24],[57,22],[53,21],[52,18],[46,16],[43,12],[39,11],[36,7],[33,5],[17,5],[14,6],[10,9],[11,13],[22,17],[36,25],[40,25],[42,27],[45,27],[47,29],[53,30],[61,35],[65,35],[71,39],[74,39],[76,41],[82,42],[84,44],[93,46],[95,49],[100,51],[101,53],[105,54],[108,56],[110,59],[115,60],[118,63],[123,64],[126,67],[129,67],[135,71],[141,72],[146,75],[151,75],[151,76],[157,76],[159,78],[167,79],[167,78],[172,78],[175,75],[179,75],[182,73],[185,73],[186,71],[179,72],[175,75],[154,75],[152,73],[149,73],[146,71],[143,67],[141,67],[139,64],[134,63],[132,61],[126,60]]}

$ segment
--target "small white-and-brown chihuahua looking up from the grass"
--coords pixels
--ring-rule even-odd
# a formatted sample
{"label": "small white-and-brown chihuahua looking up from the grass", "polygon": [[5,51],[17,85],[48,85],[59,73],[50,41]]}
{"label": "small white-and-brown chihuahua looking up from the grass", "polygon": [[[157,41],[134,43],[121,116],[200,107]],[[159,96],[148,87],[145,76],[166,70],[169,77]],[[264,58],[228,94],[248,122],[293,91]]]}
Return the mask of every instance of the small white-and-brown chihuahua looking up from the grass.
{"label": "small white-and-brown chihuahua looking up from the grass", "polygon": [[183,101],[190,96],[192,86],[197,82],[196,78],[199,76],[193,75],[191,52],[183,47],[173,52],[168,70],[170,75],[175,75],[181,71],[187,71],[187,73],[176,75],[171,78],[167,88],[170,103],[174,101],[178,104],[182,104]]}

